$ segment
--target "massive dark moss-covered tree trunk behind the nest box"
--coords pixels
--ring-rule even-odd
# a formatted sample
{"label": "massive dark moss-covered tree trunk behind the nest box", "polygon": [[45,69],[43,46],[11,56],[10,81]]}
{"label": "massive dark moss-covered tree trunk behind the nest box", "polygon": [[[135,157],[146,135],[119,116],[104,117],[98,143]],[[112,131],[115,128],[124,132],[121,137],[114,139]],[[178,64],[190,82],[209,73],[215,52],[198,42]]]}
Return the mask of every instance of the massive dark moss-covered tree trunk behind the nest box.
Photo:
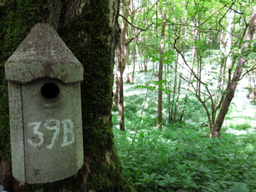
{"label": "massive dark moss-covered tree trunk behind the nest box", "polygon": [[111,127],[119,0],[44,1],[44,19],[55,27],[84,66],[84,81],[81,83],[84,166],[72,177],[42,184],[21,183],[12,176],[8,93],[6,81],[2,79],[4,62],[26,38],[31,27],[41,22],[38,19],[41,18],[40,1],[4,1],[0,9],[0,171],[3,171],[0,185],[9,192],[38,189],[135,191],[123,176]]}

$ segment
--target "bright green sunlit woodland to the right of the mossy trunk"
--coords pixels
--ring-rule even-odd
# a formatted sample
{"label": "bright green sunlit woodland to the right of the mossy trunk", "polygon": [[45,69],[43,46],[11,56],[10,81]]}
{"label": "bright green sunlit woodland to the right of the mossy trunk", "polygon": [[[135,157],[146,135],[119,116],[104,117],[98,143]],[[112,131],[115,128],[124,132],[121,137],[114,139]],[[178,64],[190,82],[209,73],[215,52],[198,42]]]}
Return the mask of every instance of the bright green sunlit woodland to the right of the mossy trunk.
{"label": "bright green sunlit woodland to the right of the mossy trunk", "polygon": [[256,191],[254,6],[121,1],[113,131],[137,191]]}

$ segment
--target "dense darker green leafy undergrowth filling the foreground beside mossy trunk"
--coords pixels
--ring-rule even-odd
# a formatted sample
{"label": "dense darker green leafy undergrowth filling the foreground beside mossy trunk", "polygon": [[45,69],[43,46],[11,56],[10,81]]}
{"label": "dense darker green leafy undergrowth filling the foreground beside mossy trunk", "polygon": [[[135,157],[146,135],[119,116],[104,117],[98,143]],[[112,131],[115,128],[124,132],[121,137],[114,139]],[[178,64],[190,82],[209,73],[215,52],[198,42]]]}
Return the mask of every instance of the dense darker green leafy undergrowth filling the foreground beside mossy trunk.
{"label": "dense darker green leafy undergrowth filling the foreground beside mossy trunk", "polygon": [[[256,191],[256,135],[224,132],[220,139],[202,131],[169,126],[164,131],[113,130],[124,174],[143,191]],[[128,151],[130,149],[130,154]]]}

